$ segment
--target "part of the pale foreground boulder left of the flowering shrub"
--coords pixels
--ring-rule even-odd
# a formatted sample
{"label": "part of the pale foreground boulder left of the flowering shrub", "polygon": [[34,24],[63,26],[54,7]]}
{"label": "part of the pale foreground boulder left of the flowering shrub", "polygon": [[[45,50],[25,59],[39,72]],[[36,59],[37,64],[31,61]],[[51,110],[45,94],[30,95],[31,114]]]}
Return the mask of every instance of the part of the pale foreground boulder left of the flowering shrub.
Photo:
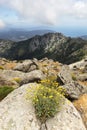
{"label": "part of the pale foreground boulder left of the flowering shrub", "polygon": [[40,129],[34,107],[26,100],[26,89],[31,86],[16,89],[0,103],[0,130]]}

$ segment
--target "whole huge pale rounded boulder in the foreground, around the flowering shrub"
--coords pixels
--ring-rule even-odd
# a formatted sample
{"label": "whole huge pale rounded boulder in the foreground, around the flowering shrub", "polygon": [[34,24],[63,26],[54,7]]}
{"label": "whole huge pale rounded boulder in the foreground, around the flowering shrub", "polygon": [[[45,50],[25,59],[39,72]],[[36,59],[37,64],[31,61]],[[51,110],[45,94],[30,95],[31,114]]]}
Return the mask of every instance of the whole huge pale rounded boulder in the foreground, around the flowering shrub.
{"label": "whole huge pale rounded boulder in the foreground, around the flowering shrub", "polygon": [[0,130],[86,130],[83,121],[71,102],[65,102],[54,118],[41,124],[35,115],[31,99],[26,99],[27,89],[37,84],[23,85],[0,103]]}

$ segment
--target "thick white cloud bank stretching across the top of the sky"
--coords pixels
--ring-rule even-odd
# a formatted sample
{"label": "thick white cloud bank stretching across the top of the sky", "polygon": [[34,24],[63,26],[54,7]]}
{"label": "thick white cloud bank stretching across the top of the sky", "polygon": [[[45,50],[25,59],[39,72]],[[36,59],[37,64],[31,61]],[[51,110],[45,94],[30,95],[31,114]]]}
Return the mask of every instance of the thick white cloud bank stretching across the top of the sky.
{"label": "thick white cloud bank stretching across the top of the sky", "polygon": [[[32,24],[58,25],[71,19],[87,20],[87,0],[0,0]],[[77,21],[79,21],[79,19]]]}

